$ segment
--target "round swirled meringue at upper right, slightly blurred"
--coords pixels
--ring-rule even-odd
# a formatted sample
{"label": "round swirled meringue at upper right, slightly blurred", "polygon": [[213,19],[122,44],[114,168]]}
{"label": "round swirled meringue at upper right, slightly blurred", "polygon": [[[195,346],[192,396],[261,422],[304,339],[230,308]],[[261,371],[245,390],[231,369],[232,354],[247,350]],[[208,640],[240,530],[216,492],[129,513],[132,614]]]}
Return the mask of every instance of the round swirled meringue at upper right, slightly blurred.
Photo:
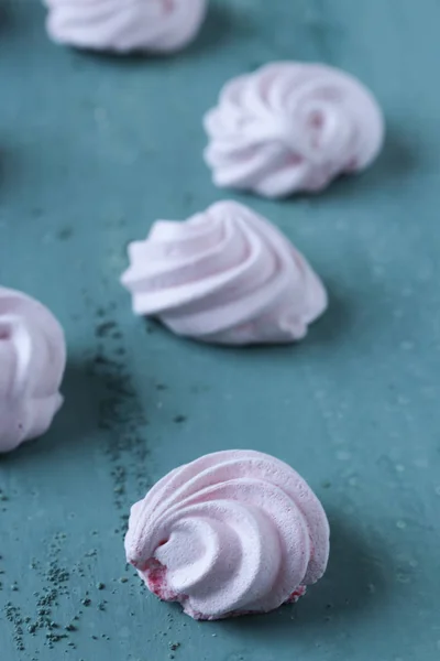
{"label": "round swirled meringue at upper right, slightly blurred", "polygon": [[282,197],[364,170],[384,140],[372,94],[321,64],[278,62],[228,83],[205,117],[218,186]]}

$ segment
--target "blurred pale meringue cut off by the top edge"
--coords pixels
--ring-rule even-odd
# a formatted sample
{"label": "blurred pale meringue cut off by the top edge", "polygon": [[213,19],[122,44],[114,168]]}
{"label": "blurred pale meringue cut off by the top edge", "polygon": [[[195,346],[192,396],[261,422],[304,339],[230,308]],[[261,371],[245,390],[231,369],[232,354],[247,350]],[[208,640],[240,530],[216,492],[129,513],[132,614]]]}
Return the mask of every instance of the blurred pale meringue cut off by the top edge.
{"label": "blurred pale meringue cut off by the top edge", "polygon": [[45,0],[47,32],[94,51],[170,53],[191,42],[207,0]]}

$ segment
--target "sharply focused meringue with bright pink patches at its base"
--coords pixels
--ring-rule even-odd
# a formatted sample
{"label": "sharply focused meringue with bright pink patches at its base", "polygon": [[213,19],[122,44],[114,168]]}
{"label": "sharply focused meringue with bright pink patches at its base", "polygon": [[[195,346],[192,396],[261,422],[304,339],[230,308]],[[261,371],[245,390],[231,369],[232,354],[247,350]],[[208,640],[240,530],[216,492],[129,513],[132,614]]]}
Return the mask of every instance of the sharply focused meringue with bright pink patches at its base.
{"label": "sharply focused meringue with bright pink patches at its base", "polygon": [[260,452],[206,455],[133,505],[128,562],[195,619],[268,613],[323,575],[326,513],[287,464]]}

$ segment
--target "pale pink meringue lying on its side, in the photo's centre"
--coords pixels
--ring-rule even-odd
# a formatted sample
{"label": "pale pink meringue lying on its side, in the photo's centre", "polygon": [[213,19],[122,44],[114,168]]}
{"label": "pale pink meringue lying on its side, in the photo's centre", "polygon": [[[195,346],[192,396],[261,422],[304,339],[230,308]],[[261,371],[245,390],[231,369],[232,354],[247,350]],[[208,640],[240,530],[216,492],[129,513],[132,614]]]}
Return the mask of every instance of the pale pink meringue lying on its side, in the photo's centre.
{"label": "pale pink meringue lying on its side, in the photo's centre", "polygon": [[133,312],[177,335],[245,345],[301,339],[327,307],[318,275],[288,239],[235,202],[185,223],[160,220],[129,246],[121,282]]}

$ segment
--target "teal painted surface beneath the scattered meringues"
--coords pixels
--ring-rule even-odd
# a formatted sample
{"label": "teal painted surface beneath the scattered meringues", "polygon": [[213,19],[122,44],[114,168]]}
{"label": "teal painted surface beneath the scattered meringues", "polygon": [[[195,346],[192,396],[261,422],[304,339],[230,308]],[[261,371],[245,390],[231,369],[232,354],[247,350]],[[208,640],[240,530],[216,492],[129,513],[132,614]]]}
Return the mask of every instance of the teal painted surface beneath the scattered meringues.
{"label": "teal painted surface beneath the scattered meringues", "polygon": [[[69,346],[52,431],[0,458],[2,661],[439,659],[439,2],[224,0],[163,61],[57,48],[37,2],[1,7],[0,281],[50,305]],[[201,115],[231,75],[288,57],[359,75],[388,122],[363,176],[240,198],[310,258],[327,316],[278,349],[147,332],[118,284],[127,241],[222,196]],[[235,446],[308,479],[331,561],[296,607],[197,624],[125,568],[123,517],[176,464]],[[59,627],[32,633],[46,617]]]}

